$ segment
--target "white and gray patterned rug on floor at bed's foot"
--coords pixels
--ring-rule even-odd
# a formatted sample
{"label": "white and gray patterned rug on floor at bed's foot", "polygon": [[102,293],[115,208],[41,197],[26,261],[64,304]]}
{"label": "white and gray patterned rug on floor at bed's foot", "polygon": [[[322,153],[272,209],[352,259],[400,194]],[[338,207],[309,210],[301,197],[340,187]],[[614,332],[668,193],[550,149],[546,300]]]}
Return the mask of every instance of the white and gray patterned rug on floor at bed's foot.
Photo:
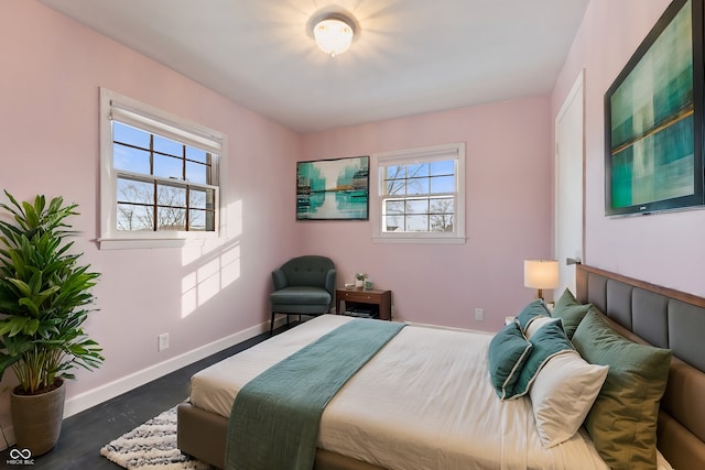
{"label": "white and gray patterned rug on floor at bed's foot", "polygon": [[100,455],[128,470],[210,470],[207,463],[176,448],[176,407],[123,434],[100,449]]}

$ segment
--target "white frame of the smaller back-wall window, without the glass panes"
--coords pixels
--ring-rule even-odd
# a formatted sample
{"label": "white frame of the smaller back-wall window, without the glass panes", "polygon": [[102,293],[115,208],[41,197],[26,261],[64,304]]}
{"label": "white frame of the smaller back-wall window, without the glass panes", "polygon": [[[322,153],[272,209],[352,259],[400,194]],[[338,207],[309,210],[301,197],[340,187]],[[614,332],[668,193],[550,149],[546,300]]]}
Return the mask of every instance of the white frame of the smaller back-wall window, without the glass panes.
{"label": "white frame of the smaller back-wall window, without the glass panes", "polygon": [[[384,168],[389,165],[455,161],[454,231],[388,232],[382,230]],[[449,143],[372,154],[377,166],[377,204],[370,207],[372,241],[376,243],[465,243],[465,143]]]}

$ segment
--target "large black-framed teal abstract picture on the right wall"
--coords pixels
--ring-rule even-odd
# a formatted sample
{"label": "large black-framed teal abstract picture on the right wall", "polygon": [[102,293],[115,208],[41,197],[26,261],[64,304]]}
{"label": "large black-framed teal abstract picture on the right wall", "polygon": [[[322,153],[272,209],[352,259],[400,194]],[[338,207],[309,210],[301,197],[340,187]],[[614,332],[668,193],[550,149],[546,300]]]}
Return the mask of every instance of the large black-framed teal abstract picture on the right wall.
{"label": "large black-framed teal abstract picture on the right wall", "polygon": [[605,94],[605,212],[703,205],[703,2],[675,0]]}

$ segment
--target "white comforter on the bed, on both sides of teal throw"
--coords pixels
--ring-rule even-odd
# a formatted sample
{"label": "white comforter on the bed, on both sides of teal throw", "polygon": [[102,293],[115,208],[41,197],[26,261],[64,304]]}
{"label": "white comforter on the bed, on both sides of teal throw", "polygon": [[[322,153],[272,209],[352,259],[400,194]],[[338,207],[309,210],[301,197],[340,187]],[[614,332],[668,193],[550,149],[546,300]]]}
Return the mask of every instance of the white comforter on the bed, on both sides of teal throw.
{"label": "white comforter on the bed, on both sides of teal throw", "polygon": [[[316,317],[198,372],[191,402],[228,417],[237,392],[349,317]],[[500,402],[489,381],[491,335],[408,326],[323,414],[318,447],[388,469],[606,469],[582,430],[544,449],[528,397]]]}

